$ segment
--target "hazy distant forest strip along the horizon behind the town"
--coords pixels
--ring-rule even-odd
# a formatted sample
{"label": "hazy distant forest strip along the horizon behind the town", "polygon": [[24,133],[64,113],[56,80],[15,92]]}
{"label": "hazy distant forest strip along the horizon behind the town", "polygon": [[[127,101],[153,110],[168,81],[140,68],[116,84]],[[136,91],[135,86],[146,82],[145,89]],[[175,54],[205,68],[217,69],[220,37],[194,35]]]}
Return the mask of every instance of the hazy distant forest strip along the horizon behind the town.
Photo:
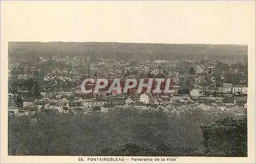
{"label": "hazy distant forest strip along the horizon behind the town", "polygon": [[112,42],[9,42],[9,59],[90,56],[124,60],[201,60],[247,63],[247,45]]}

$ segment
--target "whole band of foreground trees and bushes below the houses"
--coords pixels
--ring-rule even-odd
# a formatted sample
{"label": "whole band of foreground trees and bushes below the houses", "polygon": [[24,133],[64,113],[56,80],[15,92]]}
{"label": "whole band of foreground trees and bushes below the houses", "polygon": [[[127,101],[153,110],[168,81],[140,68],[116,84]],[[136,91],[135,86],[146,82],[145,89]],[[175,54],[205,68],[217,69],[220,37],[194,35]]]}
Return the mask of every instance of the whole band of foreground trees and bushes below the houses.
{"label": "whole band of foreground trees and bushes below the houses", "polygon": [[247,156],[247,119],[135,109],[9,117],[9,155]]}

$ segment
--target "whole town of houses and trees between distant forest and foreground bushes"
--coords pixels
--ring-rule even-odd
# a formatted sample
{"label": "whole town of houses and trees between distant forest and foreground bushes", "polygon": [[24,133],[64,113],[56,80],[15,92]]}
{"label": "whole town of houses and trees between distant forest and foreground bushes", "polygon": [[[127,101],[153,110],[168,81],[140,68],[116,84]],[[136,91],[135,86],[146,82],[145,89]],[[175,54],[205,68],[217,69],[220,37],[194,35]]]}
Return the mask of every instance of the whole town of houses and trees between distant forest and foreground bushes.
{"label": "whole town of houses and trees between distant forest and foreground bushes", "polygon": [[[8,114],[35,112],[90,114],[114,108],[163,111],[176,115],[201,110],[207,115],[247,114],[247,64],[202,60],[92,60],[92,56],[23,58],[9,63]],[[95,62],[97,61],[97,62]],[[35,64],[37,63],[37,64]],[[81,92],[85,78],[165,78],[170,93]],[[87,84],[94,85],[94,84]]]}

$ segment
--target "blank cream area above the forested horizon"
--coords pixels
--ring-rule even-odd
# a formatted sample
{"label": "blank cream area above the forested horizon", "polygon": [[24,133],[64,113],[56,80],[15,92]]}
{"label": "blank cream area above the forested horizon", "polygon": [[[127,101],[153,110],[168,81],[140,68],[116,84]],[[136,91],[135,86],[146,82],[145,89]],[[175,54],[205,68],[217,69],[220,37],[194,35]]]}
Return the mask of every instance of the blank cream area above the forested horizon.
{"label": "blank cream area above the forested horizon", "polygon": [[2,1],[1,26],[8,41],[248,44],[254,7],[254,1]]}

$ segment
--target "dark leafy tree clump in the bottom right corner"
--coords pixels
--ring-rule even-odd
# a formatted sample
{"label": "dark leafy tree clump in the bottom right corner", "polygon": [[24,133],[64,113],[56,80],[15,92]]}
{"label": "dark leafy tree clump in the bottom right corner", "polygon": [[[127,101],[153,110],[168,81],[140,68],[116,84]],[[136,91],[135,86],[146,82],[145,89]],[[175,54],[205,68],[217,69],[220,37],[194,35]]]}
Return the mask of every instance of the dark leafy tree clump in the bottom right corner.
{"label": "dark leafy tree clump in the bottom right corner", "polygon": [[224,118],[202,126],[206,155],[247,156],[247,119]]}

